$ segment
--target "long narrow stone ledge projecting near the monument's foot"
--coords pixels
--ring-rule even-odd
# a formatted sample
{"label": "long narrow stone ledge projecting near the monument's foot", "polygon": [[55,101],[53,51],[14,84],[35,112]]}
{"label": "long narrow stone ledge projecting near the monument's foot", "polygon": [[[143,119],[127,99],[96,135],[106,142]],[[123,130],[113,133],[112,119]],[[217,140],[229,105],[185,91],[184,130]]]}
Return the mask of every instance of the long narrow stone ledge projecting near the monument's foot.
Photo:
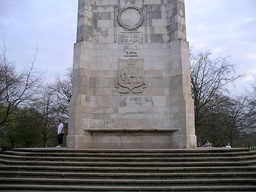
{"label": "long narrow stone ledge projecting near the monument's foot", "polygon": [[179,131],[179,129],[83,129],[88,132],[114,132],[114,131],[122,131],[122,132],[164,132],[164,131]]}

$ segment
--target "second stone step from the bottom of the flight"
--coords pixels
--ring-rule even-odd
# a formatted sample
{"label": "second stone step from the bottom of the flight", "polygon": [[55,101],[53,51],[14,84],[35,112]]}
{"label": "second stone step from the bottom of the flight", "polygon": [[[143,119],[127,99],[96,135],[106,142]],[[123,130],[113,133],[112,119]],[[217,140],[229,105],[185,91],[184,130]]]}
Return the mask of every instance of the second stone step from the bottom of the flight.
{"label": "second stone step from the bottom of the flight", "polygon": [[35,178],[35,177],[27,177],[27,178],[19,178],[19,177],[0,177],[0,185],[4,184],[56,184],[56,185],[79,185],[79,186],[87,186],[97,185],[97,186],[179,186],[183,184],[184,186],[198,186],[198,185],[255,185],[255,179],[250,178],[234,178],[234,179],[56,179],[56,178]]}

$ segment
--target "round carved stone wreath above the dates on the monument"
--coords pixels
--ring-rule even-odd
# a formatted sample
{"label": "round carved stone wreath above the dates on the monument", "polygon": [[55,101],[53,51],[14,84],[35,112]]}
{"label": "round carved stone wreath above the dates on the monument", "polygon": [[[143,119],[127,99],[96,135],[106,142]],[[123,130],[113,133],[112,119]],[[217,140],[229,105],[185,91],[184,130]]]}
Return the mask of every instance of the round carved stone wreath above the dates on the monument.
{"label": "round carved stone wreath above the dates on the monument", "polygon": [[[128,15],[125,15],[127,12],[128,13],[133,12],[134,14],[137,14],[137,15],[139,14],[140,19],[137,19],[135,21],[129,20],[130,24],[128,24],[127,22],[125,23],[124,17],[128,16]],[[132,17],[134,15],[130,14],[129,16]],[[127,30],[134,31],[134,30],[137,30],[141,26],[141,24],[143,24],[144,14],[143,14],[143,11],[140,8],[138,8],[137,6],[126,6],[125,8],[122,8],[121,10],[118,11],[117,20],[118,20],[118,23],[120,24],[120,26],[122,26],[123,28],[125,28]],[[134,23],[132,23],[132,22],[134,22]]]}

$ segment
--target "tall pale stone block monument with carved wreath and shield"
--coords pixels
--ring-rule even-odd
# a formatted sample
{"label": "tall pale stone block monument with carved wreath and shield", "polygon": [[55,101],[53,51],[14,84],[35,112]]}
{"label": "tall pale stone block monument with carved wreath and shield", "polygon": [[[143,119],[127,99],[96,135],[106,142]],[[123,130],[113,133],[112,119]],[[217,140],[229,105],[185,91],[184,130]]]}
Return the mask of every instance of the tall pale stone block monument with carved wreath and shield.
{"label": "tall pale stone block monument with carved wreath and shield", "polygon": [[193,148],[184,0],[79,0],[68,148]]}

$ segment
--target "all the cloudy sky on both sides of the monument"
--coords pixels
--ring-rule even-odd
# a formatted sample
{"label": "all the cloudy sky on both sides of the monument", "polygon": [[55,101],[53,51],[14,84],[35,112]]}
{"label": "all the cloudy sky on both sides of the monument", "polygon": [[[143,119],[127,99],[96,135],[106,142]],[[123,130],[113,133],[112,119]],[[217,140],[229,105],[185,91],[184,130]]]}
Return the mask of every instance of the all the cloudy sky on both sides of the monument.
{"label": "all the cloudy sky on both sides of the monument", "polygon": [[[187,39],[195,51],[230,56],[246,76],[234,93],[250,89],[256,74],[256,1],[185,0]],[[47,81],[72,67],[77,0],[0,0],[0,38],[17,67],[31,61]]]}

